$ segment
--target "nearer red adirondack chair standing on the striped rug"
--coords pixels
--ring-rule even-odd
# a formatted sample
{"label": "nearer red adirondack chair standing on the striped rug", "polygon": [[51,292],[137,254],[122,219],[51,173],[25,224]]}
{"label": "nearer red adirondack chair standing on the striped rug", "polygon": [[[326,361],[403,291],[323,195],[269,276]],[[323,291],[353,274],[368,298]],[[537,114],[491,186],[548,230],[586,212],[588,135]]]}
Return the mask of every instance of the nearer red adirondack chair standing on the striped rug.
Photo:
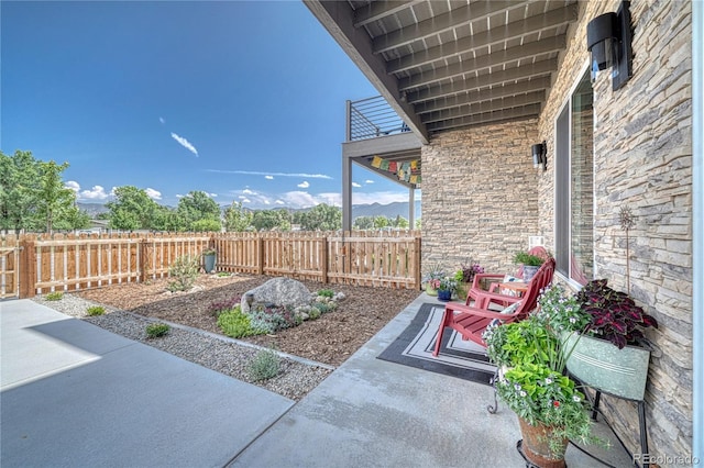
{"label": "nearer red adirondack chair standing on the striped rug", "polygon": [[486,343],[484,343],[482,334],[488,324],[496,319],[502,323],[509,323],[527,317],[528,313],[536,309],[540,291],[552,281],[553,271],[554,258],[549,258],[544,264],[542,264],[540,269],[538,269],[538,272],[529,282],[528,290],[524,293],[522,298],[509,297],[514,303],[520,301],[520,304],[517,305],[513,313],[502,313],[501,311],[490,310],[488,307],[492,303],[491,301],[487,301],[486,308],[483,309],[463,304],[461,302],[448,302],[444,308],[444,314],[442,315],[442,322],[438,328],[438,341],[432,355],[438,356],[440,353],[442,335],[444,334],[447,326],[460,333],[460,335],[462,335],[462,339],[471,339],[474,343],[486,347]]}

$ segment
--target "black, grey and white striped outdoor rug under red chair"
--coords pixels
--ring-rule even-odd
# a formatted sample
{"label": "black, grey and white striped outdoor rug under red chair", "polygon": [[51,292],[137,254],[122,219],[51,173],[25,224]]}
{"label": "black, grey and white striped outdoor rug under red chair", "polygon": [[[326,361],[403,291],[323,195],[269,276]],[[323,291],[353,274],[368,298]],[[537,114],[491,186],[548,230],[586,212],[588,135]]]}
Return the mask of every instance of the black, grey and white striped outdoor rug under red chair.
{"label": "black, grey and white striped outdoor rug under red chair", "polygon": [[463,341],[454,330],[444,332],[440,354],[432,356],[443,311],[443,304],[422,304],[410,325],[377,358],[491,386],[496,368],[486,350]]}

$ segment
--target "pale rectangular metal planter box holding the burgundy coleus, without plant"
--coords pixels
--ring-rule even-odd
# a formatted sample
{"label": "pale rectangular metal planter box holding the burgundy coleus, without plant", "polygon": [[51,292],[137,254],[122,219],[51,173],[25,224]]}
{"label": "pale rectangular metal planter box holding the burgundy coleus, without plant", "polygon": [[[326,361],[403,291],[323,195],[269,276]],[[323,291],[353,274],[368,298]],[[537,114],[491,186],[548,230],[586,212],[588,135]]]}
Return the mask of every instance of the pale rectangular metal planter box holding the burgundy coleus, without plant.
{"label": "pale rectangular metal planter box holding the burgundy coleus, without plant", "polygon": [[629,400],[642,400],[650,350],[638,346],[618,349],[612,342],[588,335],[570,335],[568,370],[584,385]]}

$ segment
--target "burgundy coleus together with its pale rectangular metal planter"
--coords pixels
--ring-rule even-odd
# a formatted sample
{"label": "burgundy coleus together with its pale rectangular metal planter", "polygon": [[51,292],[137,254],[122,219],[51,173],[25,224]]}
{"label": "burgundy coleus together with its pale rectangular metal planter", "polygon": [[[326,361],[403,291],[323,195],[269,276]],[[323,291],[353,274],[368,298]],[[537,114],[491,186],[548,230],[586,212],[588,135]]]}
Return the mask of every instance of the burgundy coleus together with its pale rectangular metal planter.
{"label": "burgundy coleus together with its pale rectangular metal planter", "polygon": [[575,297],[590,319],[578,335],[568,368],[585,385],[616,397],[642,400],[648,379],[650,349],[644,346],[642,330],[658,327],[625,292],[615,291],[607,280],[587,282]]}

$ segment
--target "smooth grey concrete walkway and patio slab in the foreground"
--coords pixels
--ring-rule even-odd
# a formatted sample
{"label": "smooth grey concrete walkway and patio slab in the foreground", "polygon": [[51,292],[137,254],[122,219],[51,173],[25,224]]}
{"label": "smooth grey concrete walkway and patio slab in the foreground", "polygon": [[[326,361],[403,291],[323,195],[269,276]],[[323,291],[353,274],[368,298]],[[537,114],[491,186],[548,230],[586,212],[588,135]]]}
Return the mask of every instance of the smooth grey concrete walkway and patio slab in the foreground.
{"label": "smooth grey concrete walkway and patio slab in the foreground", "polygon": [[[7,467],[522,467],[490,387],[376,359],[421,294],[294,402],[32,301],[1,302]],[[630,466],[615,447],[613,466]],[[574,447],[568,465],[604,467]]]}

